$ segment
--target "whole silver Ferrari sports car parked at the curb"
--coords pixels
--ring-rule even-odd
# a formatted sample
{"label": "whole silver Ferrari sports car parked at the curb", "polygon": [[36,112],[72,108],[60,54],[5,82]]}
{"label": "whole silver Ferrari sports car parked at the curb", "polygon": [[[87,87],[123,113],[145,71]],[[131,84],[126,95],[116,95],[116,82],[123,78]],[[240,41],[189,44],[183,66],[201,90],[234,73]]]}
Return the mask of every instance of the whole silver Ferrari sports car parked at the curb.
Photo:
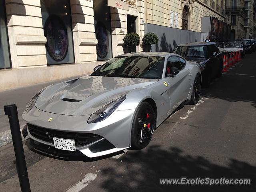
{"label": "whole silver Ferrari sports car parked at the curb", "polygon": [[22,133],[50,154],[92,158],[142,149],[168,116],[198,102],[200,90],[200,68],[177,54],[123,54],[38,92],[22,114]]}

